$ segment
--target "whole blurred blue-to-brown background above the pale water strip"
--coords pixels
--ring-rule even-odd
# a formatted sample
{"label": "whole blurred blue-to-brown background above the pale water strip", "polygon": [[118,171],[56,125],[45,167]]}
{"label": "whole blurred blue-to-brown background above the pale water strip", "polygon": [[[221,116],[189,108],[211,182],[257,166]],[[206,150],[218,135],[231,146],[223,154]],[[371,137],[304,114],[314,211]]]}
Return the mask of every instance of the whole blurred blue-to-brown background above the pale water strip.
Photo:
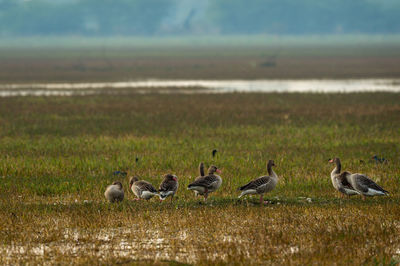
{"label": "whole blurred blue-to-brown background above the pale water strip", "polygon": [[0,83],[400,77],[400,0],[0,0]]}

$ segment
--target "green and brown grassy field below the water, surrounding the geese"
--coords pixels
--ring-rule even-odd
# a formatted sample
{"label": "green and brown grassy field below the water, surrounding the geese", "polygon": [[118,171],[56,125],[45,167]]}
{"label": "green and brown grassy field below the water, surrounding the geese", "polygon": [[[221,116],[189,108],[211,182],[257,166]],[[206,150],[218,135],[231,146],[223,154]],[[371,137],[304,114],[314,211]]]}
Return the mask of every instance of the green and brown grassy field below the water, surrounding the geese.
{"label": "green and brown grassy field below the water, surrounding the geese", "polygon": [[[399,117],[391,93],[1,98],[0,263],[397,264]],[[334,156],[391,195],[340,198]],[[238,200],[268,159],[272,203]],[[186,190],[200,161],[223,170],[207,204]],[[134,201],[125,169],[176,174],[175,201]]]}

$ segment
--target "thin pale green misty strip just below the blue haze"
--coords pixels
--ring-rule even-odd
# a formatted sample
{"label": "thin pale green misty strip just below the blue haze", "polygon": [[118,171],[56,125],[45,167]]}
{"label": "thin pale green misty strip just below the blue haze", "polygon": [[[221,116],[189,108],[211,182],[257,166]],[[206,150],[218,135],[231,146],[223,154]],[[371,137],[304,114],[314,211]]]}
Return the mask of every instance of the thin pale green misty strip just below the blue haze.
{"label": "thin pale green misty strip just below the blue haze", "polygon": [[172,48],[172,47],[252,47],[252,46],[332,46],[400,45],[400,34],[327,35],[165,35],[165,36],[2,36],[0,49],[35,48]]}

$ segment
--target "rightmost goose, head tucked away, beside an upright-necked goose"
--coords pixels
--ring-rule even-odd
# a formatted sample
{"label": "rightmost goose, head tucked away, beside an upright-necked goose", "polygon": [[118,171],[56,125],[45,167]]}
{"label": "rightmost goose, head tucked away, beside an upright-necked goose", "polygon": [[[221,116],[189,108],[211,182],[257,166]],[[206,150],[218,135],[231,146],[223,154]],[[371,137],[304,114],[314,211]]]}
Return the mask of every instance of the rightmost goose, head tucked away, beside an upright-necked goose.
{"label": "rightmost goose, head tucked away, beside an upright-necked goose", "polygon": [[[335,160],[339,161],[340,165],[340,159],[335,158]],[[389,195],[388,191],[384,190],[382,187],[380,187],[364,174],[351,174],[349,172],[343,172],[342,175],[343,178],[345,178],[347,182],[354,188],[354,190],[356,190],[359,194],[363,196],[363,199],[365,199],[365,196]]]}

